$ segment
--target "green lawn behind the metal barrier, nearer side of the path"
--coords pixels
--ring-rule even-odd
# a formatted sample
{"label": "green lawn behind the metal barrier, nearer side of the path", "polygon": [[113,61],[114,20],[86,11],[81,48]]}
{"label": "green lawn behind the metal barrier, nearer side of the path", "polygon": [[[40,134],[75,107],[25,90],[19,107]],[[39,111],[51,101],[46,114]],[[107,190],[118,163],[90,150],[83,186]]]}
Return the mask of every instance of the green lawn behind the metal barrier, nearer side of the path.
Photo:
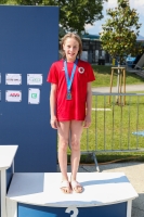
{"label": "green lawn behind the metal barrier, nearer side of the path", "polygon": [[[126,98],[128,102],[128,99]],[[89,135],[87,130],[83,131],[81,138],[81,151],[94,151],[96,150],[96,155],[100,162],[126,158],[130,156],[136,156],[136,159],[144,161],[144,153],[127,152],[127,150],[144,149],[144,138],[133,136],[132,132],[136,130],[144,130],[144,97],[141,97],[139,101],[139,113],[138,113],[138,97],[132,97],[131,106],[127,103],[125,106],[108,104],[108,99],[106,107],[112,108],[110,112],[94,112],[92,111],[92,125],[89,128]],[[95,104],[93,99],[93,104]],[[103,97],[99,97],[96,107],[104,107]],[[115,112],[114,112],[115,110]],[[114,112],[114,113],[113,113]],[[136,129],[136,118],[139,116],[139,128]],[[114,122],[113,122],[114,119]],[[87,144],[88,140],[88,144]],[[89,148],[88,148],[89,145]],[[109,153],[100,153],[103,150],[110,151]],[[119,150],[118,153],[113,153]],[[128,156],[127,156],[128,155]]]}

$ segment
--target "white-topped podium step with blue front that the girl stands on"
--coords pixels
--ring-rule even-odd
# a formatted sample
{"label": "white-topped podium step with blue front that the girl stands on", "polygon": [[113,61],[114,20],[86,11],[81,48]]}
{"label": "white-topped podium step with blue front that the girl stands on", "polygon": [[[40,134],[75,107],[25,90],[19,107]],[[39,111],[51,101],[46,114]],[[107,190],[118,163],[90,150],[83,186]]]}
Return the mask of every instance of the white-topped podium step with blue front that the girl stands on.
{"label": "white-topped podium step with blue front that the girl stands on", "polygon": [[[60,173],[14,174],[6,195],[8,217],[130,216],[138,193],[123,173],[79,173],[77,178],[84,191],[64,194]],[[17,210],[15,216],[11,209]]]}

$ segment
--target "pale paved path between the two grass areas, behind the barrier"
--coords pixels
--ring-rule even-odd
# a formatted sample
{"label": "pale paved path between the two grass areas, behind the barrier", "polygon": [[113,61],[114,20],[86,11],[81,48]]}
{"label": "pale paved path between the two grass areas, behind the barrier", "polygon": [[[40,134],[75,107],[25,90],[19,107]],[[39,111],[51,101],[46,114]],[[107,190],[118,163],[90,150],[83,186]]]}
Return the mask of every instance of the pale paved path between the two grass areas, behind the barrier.
{"label": "pale paved path between the two grass areas, behind the barrier", "polygon": [[[110,92],[110,87],[92,88],[93,92]],[[144,91],[144,84],[142,85],[127,85],[126,92]],[[117,92],[117,87],[112,88],[112,92]]]}

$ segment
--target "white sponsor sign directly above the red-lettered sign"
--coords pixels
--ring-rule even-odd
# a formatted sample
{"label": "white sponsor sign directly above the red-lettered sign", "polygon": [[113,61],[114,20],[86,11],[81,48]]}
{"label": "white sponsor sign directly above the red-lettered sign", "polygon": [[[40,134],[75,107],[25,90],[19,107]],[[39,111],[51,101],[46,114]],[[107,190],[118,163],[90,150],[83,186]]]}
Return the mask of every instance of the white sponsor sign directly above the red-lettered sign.
{"label": "white sponsor sign directly above the red-lettered sign", "polygon": [[22,85],[22,75],[5,74],[5,85]]}

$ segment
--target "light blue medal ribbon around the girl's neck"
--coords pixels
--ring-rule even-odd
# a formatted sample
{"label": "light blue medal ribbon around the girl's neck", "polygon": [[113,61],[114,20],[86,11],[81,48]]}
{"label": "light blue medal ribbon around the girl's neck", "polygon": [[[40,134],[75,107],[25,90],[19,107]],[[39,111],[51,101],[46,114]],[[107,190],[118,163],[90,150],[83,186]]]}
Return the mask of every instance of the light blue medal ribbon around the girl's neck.
{"label": "light blue medal ribbon around the girl's neck", "polygon": [[66,84],[67,84],[67,92],[70,92],[70,88],[71,88],[71,84],[73,84],[73,80],[74,80],[74,75],[76,73],[77,64],[78,64],[78,59],[76,59],[76,61],[74,62],[71,76],[69,78],[68,71],[67,71],[66,60],[64,61],[65,77],[66,77]]}

